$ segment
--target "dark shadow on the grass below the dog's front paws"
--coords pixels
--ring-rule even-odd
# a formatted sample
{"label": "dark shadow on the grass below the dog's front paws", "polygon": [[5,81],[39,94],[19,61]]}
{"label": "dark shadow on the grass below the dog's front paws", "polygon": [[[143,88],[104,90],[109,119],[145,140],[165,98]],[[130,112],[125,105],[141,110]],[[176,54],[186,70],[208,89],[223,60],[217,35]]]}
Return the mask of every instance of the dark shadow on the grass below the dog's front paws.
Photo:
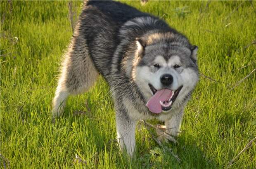
{"label": "dark shadow on the grass below the dog's front paws", "polygon": [[215,159],[206,155],[203,146],[193,136],[183,133],[176,140],[177,143],[163,142],[160,146],[151,136],[137,134],[135,157],[127,162],[131,162],[136,168],[220,167]]}

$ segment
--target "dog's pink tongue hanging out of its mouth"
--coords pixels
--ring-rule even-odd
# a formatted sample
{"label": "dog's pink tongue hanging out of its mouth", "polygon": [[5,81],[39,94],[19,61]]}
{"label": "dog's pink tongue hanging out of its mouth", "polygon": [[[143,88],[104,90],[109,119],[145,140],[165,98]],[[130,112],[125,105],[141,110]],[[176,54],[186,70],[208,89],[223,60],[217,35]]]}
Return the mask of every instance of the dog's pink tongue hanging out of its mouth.
{"label": "dog's pink tongue hanging out of its mouth", "polygon": [[147,107],[152,113],[161,113],[162,106],[160,104],[160,101],[164,102],[167,101],[172,94],[173,91],[169,89],[161,89],[158,90],[154,96],[152,96],[151,99],[147,102]]}

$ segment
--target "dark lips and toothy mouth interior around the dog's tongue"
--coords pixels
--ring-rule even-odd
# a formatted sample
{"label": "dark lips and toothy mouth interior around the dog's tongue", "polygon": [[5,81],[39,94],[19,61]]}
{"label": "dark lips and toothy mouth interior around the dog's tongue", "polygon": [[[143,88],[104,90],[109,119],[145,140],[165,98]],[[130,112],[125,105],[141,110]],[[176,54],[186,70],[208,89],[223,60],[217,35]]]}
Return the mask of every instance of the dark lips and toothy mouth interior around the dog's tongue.
{"label": "dark lips and toothy mouth interior around the dog's tongue", "polygon": [[[148,84],[149,88],[151,89],[152,93],[155,94],[157,90],[153,87],[153,85]],[[180,93],[180,90],[183,88],[183,85],[180,86],[177,90],[174,92],[172,91],[171,96],[166,101],[160,101],[161,108],[163,111],[168,111],[171,109],[175,99],[177,98],[178,94]]]}

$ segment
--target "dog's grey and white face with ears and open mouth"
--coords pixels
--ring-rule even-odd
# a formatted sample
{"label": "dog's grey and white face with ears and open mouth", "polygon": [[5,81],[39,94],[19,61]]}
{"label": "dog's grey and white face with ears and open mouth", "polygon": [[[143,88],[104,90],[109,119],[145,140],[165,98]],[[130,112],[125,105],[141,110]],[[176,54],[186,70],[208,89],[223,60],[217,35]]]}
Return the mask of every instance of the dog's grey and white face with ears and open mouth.
{"label": "dog's grey and white face with ears and open mouth", "polygon": [[180,106],[194,89],[198,76],[197,47],[137,41],[138,59],[133,79],[152,113],[169,112]]}

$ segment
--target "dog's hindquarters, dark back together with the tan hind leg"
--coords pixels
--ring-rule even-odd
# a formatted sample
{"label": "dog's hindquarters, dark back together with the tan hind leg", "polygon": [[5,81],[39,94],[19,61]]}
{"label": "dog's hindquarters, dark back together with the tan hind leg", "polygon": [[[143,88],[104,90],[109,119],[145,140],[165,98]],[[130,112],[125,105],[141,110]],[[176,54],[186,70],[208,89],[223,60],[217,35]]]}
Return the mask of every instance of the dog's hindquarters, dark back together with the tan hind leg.
{"label": "dog's hindquarters, dark back together with the tan hind leg", "polygon": [[71,43],[64,54],[58,86],[53,99],[53,117],[59,117],[70,94],[80,94],[106,77],[119,44],[119,28],[129,19],[148,16],[114,1],[85,1]]}

